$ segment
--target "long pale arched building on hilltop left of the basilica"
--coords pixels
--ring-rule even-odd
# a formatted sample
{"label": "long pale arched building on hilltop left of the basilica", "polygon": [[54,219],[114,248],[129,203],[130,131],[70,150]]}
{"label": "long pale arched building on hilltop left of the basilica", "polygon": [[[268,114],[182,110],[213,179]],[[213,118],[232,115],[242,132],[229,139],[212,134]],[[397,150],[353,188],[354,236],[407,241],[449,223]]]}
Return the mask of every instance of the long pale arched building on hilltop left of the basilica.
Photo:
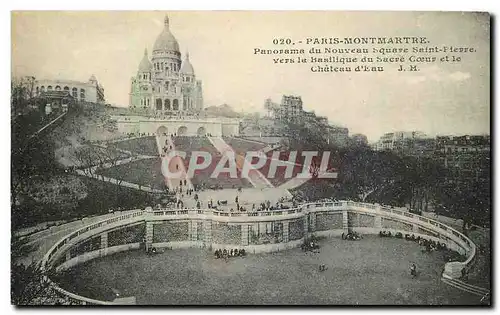
{"label": "long pale arched building on hilltop left of the basilica", "polygon": [[36,80],[34,91],[35,96],[40,98],[57,100],[71,97],[78,102],[105,103],[104,88],[94,75],[87,82],[64,79]]}

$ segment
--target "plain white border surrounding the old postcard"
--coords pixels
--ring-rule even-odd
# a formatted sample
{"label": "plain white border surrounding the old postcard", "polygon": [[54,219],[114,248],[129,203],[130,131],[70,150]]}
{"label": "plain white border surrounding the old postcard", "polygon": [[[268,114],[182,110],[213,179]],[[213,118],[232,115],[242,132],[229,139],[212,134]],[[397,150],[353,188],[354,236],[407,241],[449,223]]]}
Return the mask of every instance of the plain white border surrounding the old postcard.
{"label": "plain white border surrounding the old postcard", "polygon": [[[376,0],[376,1],[370,1],[370,0],[364,0],[364,1],[345,1],[342,3],[334,2],[334,1],[320,1],[320,0],[302,0],[302,1],[296,1],[296,0],[287,0],[287,1],[274,1],[271,2],[269,0],[252,0],[252,1],[221,1],[221,0],[209,0],[209,1],[203,1],[203,0],[179,0],[179,1],[166,1],[166,0],[156,0],[156,1],[150,1],[150,0],[141,0],[141,1],[130,1],[130,2],[124,2],[122,1],[108,1],[104,2],[102,0],[85,0],[85,1],[53,1],[53,0],[42,0],[42,1],[35,1],[35,0],[22,0],[22,1],[2,1],[0,3],[0,6],[3,10],[0,11],[0,23],[2,25],[1,31],[2,31],[2,38],[8,39],[10,38],[10,10],[33,10],[33,9],[39,9],[39,10],[159,10],[159,9],[169,9],[169,10],[185,10],[185,9],[203,9],[203,10],[245,10],[245,9],[252,9],[252,10],[391,10],[391,11],[396,11],[396,10],[407,10],[407,11],[488,11],[493,14],[498,14],[500,12],[499,10],[499,3],[500,1],[487,1],[487,0],[474,0],[474,1],[446,1],[446,2],[441,2],[438,3],[436,0],[415,0],[415,1],[388,1],[388,0]],[[498,22],[498,21],[497,21]],[[495,34],[495,40],[498,40],[498,32],[494,32]],[[3,89],[0,90],[0,99],[4,100],[4,102],[9,102],[9,95],[10,95],[10,45],[8,43],[8,40],[6,40],[6,44],[2,47],[1,52],[2,52],[2,60],[4,62],[1,63],[1,74],[2,75],[2,86],[4,87]],[[495,75],[498,75],[497,69],[494,69]],[[493,87],[493,91],[498,90],[498,79],[495,82],[495,87]],[[494,99],[494,98],[493,98]],[[7,104],[4,103],[3,106],[0,107],[1,110],[1,119],[4,120],[2,126],[9,126],[10,122],[10,109]],[[498,121],[498,110],[495,113],[495,119]],[[493,124],[492,124],[493,126]],[[4,131],[0,133],[0,144],[2,148],[10,148],[10,130],[7,129],[7,127],[4,127]],[[493,137],[493,139],[496,139]],[[495,146],[498,143],[495,141]],[[2,253],[4,254],[4,257],[10,253],[10,185],[7,182],[7,174],[10,174],[10,153],[7,152],[8,150],[4,150],[5,153],[2,155],[2,172],[3,174],[3,181],[2,181],[2,189],[0,190],[1,192],[1,200],[2,200],[2,237],[1,237],[1,249]],[[496,159],[495,159],[496,160]],[[496,164],[496,163],[495,163]],[[496,174],[496,172],[495,172]],[[498,193],[498,189],[495,189],[495,193]],[[499,194],[497,194],[498,196]],[[496,206],[496,203],[495,203]],[[496,208],[496,207],[494,207]],[[492,210],[493,211],[493,210]],[[495,222],[494,226],[497,226],[498,222],[498,214],[495,216]],[[497,233],[498,234],[498,233]],[[497,236],[497,235],[495,235]],[[495,242],[494,244],[497,244],[498,238],[495,237]],[[496,249],[496,247],[495,247]],[[495,249],[492,251],[495,252]],[[9,255],[10,256],[10,255]],[[7,259],[3,260],[4,262],[1,263],[2,267],[2,278],[0,279],[0,286],[1,286],[1,293],[2,293],[2,303],[1,303],[1,310],[4,312],[14,312],[15,309],[10,306],[10,263]],[[496,260],[498,262],[498,259]],[[498,266],[496,263],[493,268]],[[496,268],[495,268],[496,270]],[[496,280],[498,278],[498,272],[494,272],[496,275],[494,283],[498,283]],[[496,287],[495,287],[496,288]],[[495,294],[496,297],[497,294]],[[495,301],[498,303],[498,299],[495,299]],[[118,311],[118,312],[123,312],[123,308],[118,309],[118,310],[103,310],[103,309],[97,309],[94,310],[94,312],[97,313],[102,313],[104,312],[109,312],[109,311]],[[347,313],[347,312],[352,312],[354,309],[325,309],[322,310],[323,312],[336,312],[338,313]],[[33,312],[34,310],[25,310],[24,312]],[[51,314],[52,309],[42,309],[42,310],[35,310],[37,312],[42,312],[42,313],[47,313]],[[180,309],[148,309],[148,311],[154,311],[154,312],[165,312],[168,311],[169,313],[177,313],[181,311]],[[194,310],[191,310],[194,312]],[[221,312],[227,312],[227,309],[210,309],[210,310],[196,310],[196,312],[199,311],[211,311],[211,312],[216,312],[216,313],[221,313]],[[230,310],[234,312],[235,310]],[[261,312],[261,313],[270,313],[270,314],[275,314],[276,312],[301,312],[304,311],[302,309],[300,310],[291,310],[291,309],[266,309],[266,310],[256,310],[256,309],[238,309],[237,312]],[[308,310],[309,311],[309,310]],[[314,311],[321,311],[314,309]],[[386,309],[380,309],[377,310],[378,312],[387,312],[388,310]],[[394,309],[392,311],[396,311],[398,313],[406,311],[406,309]],[[413,309],[413,311],[421,311],[420,309]],[[432,311],[426,310],[426,312],[457,312],[459,310],[457,309],[434,309]],[[465,310],[467,312],[470,312],[471,310]],[[77,312],[82,312],[82,310],[78,310]],[[133,313],[141,312],[140,310],[133,310]],[[363,309],[363,312],[366,313],[373,313],[373,309]],[[142,313],[142,312],[141,312]]]}

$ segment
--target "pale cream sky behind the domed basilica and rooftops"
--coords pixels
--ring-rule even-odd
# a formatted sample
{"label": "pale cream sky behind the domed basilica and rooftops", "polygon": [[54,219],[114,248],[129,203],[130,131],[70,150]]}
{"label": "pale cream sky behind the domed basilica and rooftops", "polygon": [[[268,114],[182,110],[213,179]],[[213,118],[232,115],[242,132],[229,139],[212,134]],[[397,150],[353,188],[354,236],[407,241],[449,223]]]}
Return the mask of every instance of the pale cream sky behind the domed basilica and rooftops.
{"label": "pale cream sky behind the domed basilica and rooftops", "polygon": [[[306,110],[370,141],[392,131],[419,130],[429,136],[490,131],[490,31],[485,14],[13,12],[12,74],[82,81],[94,74],[107,102],[127,106],[130,79],[145,48],[151,56],[165,14],[183,57],[189,51],[197,79],[203,81],[205,107],[228,104],[236,111],[263,111],[266,98],[280,102],[282,95],[291,94],[302,97]],[[476,51],[461,54],[460,63],[419,64],[420,71],[405,73],[396,71],[398,64],[386,65],[379,73],[313,73],[308,64],[274,64],[276,56],[254,54],[254,48],[286,48],[273,45],[273,39],[356,36],[425,36],[428,46]],[[307,51],[312,46],[296,47]]]}

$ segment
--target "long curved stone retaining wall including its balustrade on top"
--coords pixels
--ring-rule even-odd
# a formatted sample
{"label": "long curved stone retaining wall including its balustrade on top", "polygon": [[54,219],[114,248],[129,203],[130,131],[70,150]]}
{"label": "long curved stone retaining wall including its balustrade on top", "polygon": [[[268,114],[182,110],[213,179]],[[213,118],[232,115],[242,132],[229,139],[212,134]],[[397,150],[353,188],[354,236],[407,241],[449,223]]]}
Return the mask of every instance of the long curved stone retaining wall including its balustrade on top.
{"label": "long curved stone retaining wall including its balustrade on top", "polygon": [[[316,227],[319,226],[318,220],[322,220],[322,215],[336,215],[335,218],[339,218],[339,221],[342,222],[338,222],[335,225],[336,228],[327,226],[326,230],[319,231]],[[365,222],[363,226],[360,226],[361,216]],[[165,235],[158,233],[155,235],[155,226],[168,222],[172,225],[165,228],[167,228],[167,232],[171,233],[173,232],[169,229],[177,223],[179,225],[182,222],[188,223],[186,228],[182,230],[183,234],[181,233],[182,235],[179,235],[175,241],[164,240]],[[384,226],[384,224],[389,223],[395,226]],[[138,249],[141,242],[108,247],[108,233],[137,224],[145,224],[144,245],[146,249],[151,246],[210,249],[245,248],[248,253],[272,252],[297,247],[304,238],[311,234],[340,235],[350,230],[365,234],[378,234],[381,230],[414,234],[445,243],[448,248],[467,257],[463,262],[445,264],[443,277],[450,279],[459,278],[463,270],[469,270],[474,263],[476,254],[475,244],[455,229],[426,217],[378,204],[338,201],[309,203],[293,209],[258,212],[227,212],[214,209],[153,209],[148,207],[145,210],[129,211],[127,214],[108,217],[66,235],[46,253],[42,259],[42,268],[57,272],[97,257]],[[276,237],[278,240],[276,243],[266,239],[259,240],[260,234],[257,234],[257,240],[251,239],[251,236],[255,238],[255,234],[250,234],[255,232],[254,229],[260,233],[262,228],[267,233],[269,226],[271,226],[271,230],[276,231],[277,235],[279,234]],[[157,227],[158,231],[159,227]],[[98,242],[94,242],[100,244],[99,248],[90,247],[87,252],[81,255],[77,253],[75,257],[72,257],[71,249],[95,237],[100,237]],[[153,242],[155,237],[157,242]],[[226,243],[224,240],[230,241]],[[80,297],[61,289],[50,279],[48,281],[53,290],[72,301],[77,300],[81,304],[112,303]]]}

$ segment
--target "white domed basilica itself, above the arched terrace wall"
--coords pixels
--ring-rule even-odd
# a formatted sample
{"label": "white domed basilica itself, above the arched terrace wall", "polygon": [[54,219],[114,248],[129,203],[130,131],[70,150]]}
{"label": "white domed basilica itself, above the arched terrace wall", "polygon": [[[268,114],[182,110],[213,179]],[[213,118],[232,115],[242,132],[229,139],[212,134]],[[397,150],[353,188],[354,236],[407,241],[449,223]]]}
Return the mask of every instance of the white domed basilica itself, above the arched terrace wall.
{"label": "white domed basilica itself, above the arched terrace wall", "polygon": [[131,79],[129,107],[168,115],[192,115],[203,110],[201,81],[196,80],[189,53],[182,61],[168,16],[153,45],[151,59],[145,49]]}

